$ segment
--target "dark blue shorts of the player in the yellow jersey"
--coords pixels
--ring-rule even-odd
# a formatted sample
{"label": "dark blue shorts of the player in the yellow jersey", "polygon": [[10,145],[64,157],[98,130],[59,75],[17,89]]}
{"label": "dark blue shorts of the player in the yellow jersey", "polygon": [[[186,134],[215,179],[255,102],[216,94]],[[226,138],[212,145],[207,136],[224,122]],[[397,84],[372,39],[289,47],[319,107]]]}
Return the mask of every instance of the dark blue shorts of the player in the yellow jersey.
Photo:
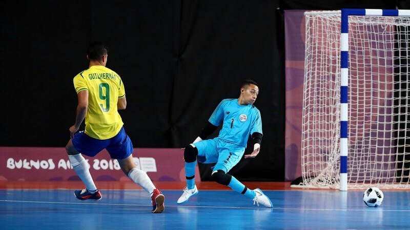
{"label": "dark blue shorts of the player in the yellow jersey", "polygon": [[134,151],[124,127],[119,130],[115,137],[107,140],[98,140],[86,135],[84,131],[80,131],[75,133],[72,142],[77,151],[89,157],[94,157],[101,150],[107,149],[112,159],[125,159]]}

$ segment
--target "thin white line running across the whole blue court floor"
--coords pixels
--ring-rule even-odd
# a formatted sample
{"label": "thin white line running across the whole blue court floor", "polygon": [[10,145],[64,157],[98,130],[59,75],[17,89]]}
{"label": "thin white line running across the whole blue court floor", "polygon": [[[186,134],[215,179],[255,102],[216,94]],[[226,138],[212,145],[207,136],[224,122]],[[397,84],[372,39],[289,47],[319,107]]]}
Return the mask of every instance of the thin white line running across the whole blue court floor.
{"label": "thin white line running across the whole blue court floor", "polygon": [[[23,200],[0,200],[0,202],[16,202],[16,203],[44,203],[44,204],[80,204],[80,205],[113,205],[113,206],[149,206],[148,204],[109,204],[93,201],[93,203],[72,203],[72,202],[51,202],[51,201],[23,201]],[[308,211],[369,211],[369,212],[410,212],[410,210],[397,209],[381,209],[381,208],[362,208],[362,209],[335,209],[335,208],[282,208],[273,207],[232,207],[232,206],[200,206],[200,205],[167,205],[167,207],[191,207],[191,208],[233,208],[233,209],[262,209],[262,210],[308,210]]]}

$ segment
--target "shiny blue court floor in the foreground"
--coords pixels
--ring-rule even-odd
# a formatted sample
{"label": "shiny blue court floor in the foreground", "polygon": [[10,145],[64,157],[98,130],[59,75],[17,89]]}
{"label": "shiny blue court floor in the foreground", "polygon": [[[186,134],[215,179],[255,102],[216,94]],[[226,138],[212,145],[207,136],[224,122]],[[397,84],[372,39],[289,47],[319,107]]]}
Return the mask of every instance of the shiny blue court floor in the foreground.
{"label": "shiny blue court floor in the foreground", "polygon": [[383,191],[367,207],[362,191],[264,190],[274,208],[232,190],[200,190],[177,205],[181,190],[162,190],[166,209],[151,214],[144,190],[101,190],[100,201],[66,189],[0,189],[0,229],[409,229],[410,191]]}

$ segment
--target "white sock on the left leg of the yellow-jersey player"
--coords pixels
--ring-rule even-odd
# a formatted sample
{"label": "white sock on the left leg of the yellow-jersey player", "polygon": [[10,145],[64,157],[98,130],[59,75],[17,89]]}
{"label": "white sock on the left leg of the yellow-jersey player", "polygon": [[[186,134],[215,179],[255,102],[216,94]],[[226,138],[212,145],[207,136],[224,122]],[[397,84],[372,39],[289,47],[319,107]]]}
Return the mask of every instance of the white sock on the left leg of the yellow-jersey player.
{"label": "white sock on the left leg of the yellow-jersey player", "polygon": [[81,154],[68,155],[71,165],[78,177],[83,181],[89,191],[96,191],[97,187],[91,177],[86,159]]}

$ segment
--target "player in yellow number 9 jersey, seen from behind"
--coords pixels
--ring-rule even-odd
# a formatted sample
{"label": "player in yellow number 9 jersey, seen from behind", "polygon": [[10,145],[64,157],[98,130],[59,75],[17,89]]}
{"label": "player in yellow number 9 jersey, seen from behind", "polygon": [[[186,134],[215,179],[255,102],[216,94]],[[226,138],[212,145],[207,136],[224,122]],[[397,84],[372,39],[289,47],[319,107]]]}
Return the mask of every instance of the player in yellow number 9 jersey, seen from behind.
{"label": "player in yellow number 9 jersey, seen from behind", "polygon": [[[71,138],[66,146],[74,171],[86,185],[83,190],[75,190],[74,195],[79,200],[102,198],[91,177],[88,163],[81,154],[94,157],[107,149],[111,158],[118,160],[122,171],[150,194],[152,213],[162,213],[165,197],[147,173],[135,167],[133,145],[118,113],[119,109],[127,106],[124,83],[116,72],[106,67],[107,47],[101,43],[91,43],[87,59],[89,68],[77,74],[73,81],[78,106],[75,123],[70,127]],[[77,132],[84,119],[85,130]]]}

